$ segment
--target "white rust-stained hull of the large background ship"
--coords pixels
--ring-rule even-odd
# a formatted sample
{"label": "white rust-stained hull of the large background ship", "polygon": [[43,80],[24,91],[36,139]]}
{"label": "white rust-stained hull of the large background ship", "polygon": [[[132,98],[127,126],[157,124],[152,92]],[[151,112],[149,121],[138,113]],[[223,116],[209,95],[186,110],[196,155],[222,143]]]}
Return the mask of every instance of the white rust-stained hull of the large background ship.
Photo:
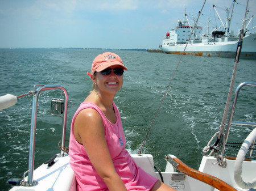
{"label": "white rust-stained hull of the large background ship", "polygon": [[[238,41],[188,44],[185,55],[235,58]],[[185,44],[160,46],[168,54],[183,54]],[[242,44],[242,59],[256,60],[256,33],[244,37]]]}

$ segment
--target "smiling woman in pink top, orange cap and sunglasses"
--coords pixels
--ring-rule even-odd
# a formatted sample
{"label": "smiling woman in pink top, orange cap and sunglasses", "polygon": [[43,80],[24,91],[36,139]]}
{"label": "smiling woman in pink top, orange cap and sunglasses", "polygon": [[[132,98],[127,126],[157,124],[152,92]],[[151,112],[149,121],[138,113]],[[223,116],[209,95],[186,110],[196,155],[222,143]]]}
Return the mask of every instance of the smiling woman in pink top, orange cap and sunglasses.
{"label": "smiling woman in pink top, orange cap and sunglasses", "polygon": [[77,190],[173,190],[139,168],[125,150],[121,117],[113,102],[127,68],[114,53],[92,63],[93,91],[77,109],[69,139]]}

